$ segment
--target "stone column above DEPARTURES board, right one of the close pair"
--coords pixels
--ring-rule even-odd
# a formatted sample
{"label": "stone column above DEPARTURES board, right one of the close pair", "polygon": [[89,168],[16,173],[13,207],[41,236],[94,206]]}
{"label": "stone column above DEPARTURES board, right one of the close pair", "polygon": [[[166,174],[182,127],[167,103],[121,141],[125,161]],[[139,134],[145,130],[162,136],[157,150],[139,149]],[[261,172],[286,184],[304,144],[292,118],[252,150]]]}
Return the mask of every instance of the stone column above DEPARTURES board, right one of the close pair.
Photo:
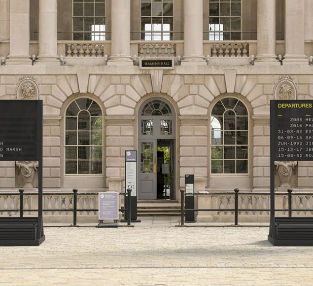
{"label": "stone column above DEPARTURES board, right one of the close pair", "polygon": [[285,0],[284,65],[308,65],[304,51],[305,0]]}

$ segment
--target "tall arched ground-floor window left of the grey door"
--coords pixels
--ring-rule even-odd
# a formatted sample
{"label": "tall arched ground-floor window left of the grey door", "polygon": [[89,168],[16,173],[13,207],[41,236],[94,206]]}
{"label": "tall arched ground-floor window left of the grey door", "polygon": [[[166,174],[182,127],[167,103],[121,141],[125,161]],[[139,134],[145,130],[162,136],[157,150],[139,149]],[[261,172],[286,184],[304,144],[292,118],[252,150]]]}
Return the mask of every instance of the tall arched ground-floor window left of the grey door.
{"label": "tall arched ground-floor window left of the grey door", "polygon": [[66,111],[65,174],[102,174],[103,119],[89,98],[74,100]]}

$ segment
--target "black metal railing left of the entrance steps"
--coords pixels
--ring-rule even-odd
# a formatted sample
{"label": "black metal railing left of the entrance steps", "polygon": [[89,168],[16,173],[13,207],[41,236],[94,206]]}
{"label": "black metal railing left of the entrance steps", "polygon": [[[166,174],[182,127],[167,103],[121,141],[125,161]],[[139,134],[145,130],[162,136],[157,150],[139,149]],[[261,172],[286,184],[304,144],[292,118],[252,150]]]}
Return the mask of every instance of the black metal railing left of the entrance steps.
{"label": "black metal railing left of the entrance steps", "polygon": [[[128,205],[127,207],[125,206],[126,202],[126,197],[130,198],[131,197],[131,192],[132,190],[128,189],[127,192],[124,193],[119,193],[120,196],[124,196],[124,208],[119,209],[120,212],[124,213],[124,217],[127,216],[127,225],[131,225],[131,200],[127,200]],[[17,210],[0,210],[1,213],[11,213],[11,212],[19,212],[20,217],[24,216],[24,212],[38,212],[38,209],[27,209],[24,210],[24,196],[38,196],[37,193],[24,193],[24,189],[19,189],[19,194],[16,193],[0,193],[0,196],[19,196],[20,199],[20,207]],[[73,208],[68,208],[68,209],[47,209],[44,208],[42,211],[43,212],[72,212],[73,213],[73,226],[77,225],[77,212],[98,212],[98,209],[79,209],[77,208],[77,201],[78,201],[78,196],[83,196],[83,195],[95,195],[98,196],[98,193],[78,193],[77,189],[73,189],[72,193],[66,192],[66,193],[44,193],[45,196],[53,196],[53,195],[62,195],[62,196],[72,196],[73,198]]]}

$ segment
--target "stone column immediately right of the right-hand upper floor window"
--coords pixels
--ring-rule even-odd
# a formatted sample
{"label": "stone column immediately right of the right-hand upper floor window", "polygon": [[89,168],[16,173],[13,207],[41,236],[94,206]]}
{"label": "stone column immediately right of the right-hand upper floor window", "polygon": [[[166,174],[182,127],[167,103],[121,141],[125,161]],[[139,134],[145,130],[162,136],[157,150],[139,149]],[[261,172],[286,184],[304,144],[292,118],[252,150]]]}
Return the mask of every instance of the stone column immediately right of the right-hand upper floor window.
{"label": "stone column immediately right of the right-hand upper floor window", "polygon": [[257,2],[257,57],[255,64],[277,64],[276,59],[276,1]]}

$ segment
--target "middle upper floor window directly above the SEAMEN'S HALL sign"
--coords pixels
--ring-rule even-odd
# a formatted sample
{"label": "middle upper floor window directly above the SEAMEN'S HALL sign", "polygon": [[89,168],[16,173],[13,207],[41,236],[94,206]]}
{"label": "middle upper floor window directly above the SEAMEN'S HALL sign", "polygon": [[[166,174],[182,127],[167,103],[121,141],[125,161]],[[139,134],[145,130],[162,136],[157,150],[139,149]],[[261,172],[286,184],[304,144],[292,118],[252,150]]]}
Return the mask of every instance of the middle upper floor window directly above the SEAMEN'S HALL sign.
{"label": "middle upper floor window directly above the SEAMEN'S HALL sign", "polygon": [[141,0],[141,39],[173,40],[173,0]]}

